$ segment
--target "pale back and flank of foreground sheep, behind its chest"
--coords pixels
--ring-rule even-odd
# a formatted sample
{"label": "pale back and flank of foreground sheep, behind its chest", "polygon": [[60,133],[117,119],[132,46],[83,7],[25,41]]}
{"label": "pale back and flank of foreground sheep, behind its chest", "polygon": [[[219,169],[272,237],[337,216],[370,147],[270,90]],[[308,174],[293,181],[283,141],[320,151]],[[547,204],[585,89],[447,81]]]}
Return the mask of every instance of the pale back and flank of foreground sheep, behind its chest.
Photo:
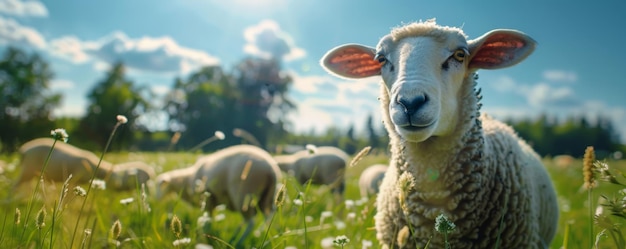
{"label": "pale back and flank of foreground sheep, behind its chest", "polygon": [[[552,180],[539,155],[514,130],[487,115],[481,116],[485,134],[485,157],[502,174],[518,203],[509,203],[508,215],[516,216],[526,229],[537,234],[535,245],[543,247],[552,241],[558,223],[558,203]],[[511,198],[515,201],[515,198]],[[521,224],[507,224],[515,227]],[[507,227],[505,225],[505,227]]]}

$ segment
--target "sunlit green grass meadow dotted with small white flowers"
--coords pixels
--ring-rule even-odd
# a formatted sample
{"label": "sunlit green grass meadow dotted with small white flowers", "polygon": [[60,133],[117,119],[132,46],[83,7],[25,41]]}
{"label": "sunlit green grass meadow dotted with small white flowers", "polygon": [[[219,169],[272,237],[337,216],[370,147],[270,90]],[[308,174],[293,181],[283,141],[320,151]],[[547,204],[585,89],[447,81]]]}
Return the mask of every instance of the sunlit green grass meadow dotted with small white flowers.
{"label": "sunlit green grass meadow dotted with small white flowers", "polygon": [[[191,165],[198,156],[192,153],[107,153],[104,158],[114,163],[142,160],[154,165],[160,173]],[[0,155],[0,160],[4,162],[0,174],[0,188],[3,189],[0,192],[3,209],[0,215],[1,248],[210,248],[197,244],[233,248],[238,238],[236,231],[243,223],[240,215],[223,209],[203,216],[205,214],[199,207],[179,200],[176,194],[156,200],[148,191],[142,201],[141,190],[93,189],[87,197],[81,197],[73,193],[74,186],[69,186],[70,191],[58,205],[63,186],[50,182],[43,184],[44,194],[33,202],[31,212],[27,214],[35,181],[14,191],[12,179],[19,174],[19,158],[17,155]],[[557,167],[550,159],[544,162],[557,188],[561,208],[559,230],[550,248],[563,246],[566,230],[569,230],[567,248],[589,248],[589,207],[587,192],[581,187],[582,162],[576,160],[565,167]],[[257,215],[257,226],[243,248],[339,248],[332,241],[340,235],[350,240],[344,248],[368,245],[377,248],[372,219],[374,200],[361,200],[357,186],[360,172],[373,163],[386,163],[386,158],[370,155],[348,169],[345,201],[340,203],[333,202],[333,196],[325,187],[301,186],[286,177],[286,200],[266,223],[263,223],[262,215]],[[608,163],[612,169],[626,170],[626,161]],[[87,186],[82,187],[87,189]],[[608,183],[600,183],[592,192],[594,207],[600,194],[617,197],[618,190]],[[296,199],[301,202],[294,201]],[[84,201],[86,205],[80,214]],[[45,216],[38,215],[42,207],[47,213]],[[16,209],[20,210],[19,218]],[[178,236],[172,230],[178,228],[171,226],[175,216],[181,221]],[[16,225],[17,220],[19,224]],[[117,220],[120,226],[113,229]],[[45,225],[38,228],[37,223],[42,225],[42,222]],[[268,225],[271,226],[268,228]],[[596,227],[594,233],[600,230]],[[115,237],[117,232],[119,236]],[[600,238],[599,248],[615,248],[615,244],[605,236]]]}

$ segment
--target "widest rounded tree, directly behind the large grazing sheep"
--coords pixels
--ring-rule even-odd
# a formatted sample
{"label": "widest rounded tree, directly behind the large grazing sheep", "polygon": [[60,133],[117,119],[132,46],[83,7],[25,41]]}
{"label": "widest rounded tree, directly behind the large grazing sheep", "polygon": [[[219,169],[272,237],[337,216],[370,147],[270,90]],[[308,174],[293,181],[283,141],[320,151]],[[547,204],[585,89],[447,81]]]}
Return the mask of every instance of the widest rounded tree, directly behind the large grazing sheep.
{"label": "widest rounded tree, directly behind the large grazing sheep", "polygon": [[219,147],[241,143],[231,135],[235,128],[266,147],[286,134],[285,115],[294,108],[286,98],[290,83],[273,60],[244,59],[233,74],[219,66],[202,68],[187,80],[177,79],[166,96],[170,131],[182,132],[179,148],[191,148],[216,130],[228,135]]}

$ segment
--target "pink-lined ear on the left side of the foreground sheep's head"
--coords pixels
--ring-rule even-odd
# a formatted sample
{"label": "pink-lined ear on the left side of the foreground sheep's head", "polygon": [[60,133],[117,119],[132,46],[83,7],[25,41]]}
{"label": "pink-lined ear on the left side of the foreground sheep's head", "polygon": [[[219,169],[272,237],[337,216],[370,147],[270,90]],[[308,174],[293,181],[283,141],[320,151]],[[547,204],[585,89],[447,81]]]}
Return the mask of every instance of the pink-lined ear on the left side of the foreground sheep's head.
{"label": "pink-lined ear on the left side of the foreground sheep's head", "polygon": [[380,75],[380,63],[374,60],[376,50],[358,44],[331,49],[322,57],[322,67],[339,77],[360,79]]}

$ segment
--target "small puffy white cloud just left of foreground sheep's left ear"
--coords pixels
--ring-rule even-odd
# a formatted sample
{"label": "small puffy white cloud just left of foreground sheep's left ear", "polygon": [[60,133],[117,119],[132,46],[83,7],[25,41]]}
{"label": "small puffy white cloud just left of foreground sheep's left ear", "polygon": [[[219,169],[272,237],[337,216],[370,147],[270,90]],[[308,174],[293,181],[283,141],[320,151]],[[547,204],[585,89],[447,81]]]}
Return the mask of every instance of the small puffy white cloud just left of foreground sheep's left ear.
{"label": "small puffy white cloud just left of foreground sheep's left ear", "polygon": [[306,51],[294,45],[291,36],[280,29],[273,20],[263,20],[244,30],[244,52],[262,58],[281,58],[292,61],[303,58]]}

